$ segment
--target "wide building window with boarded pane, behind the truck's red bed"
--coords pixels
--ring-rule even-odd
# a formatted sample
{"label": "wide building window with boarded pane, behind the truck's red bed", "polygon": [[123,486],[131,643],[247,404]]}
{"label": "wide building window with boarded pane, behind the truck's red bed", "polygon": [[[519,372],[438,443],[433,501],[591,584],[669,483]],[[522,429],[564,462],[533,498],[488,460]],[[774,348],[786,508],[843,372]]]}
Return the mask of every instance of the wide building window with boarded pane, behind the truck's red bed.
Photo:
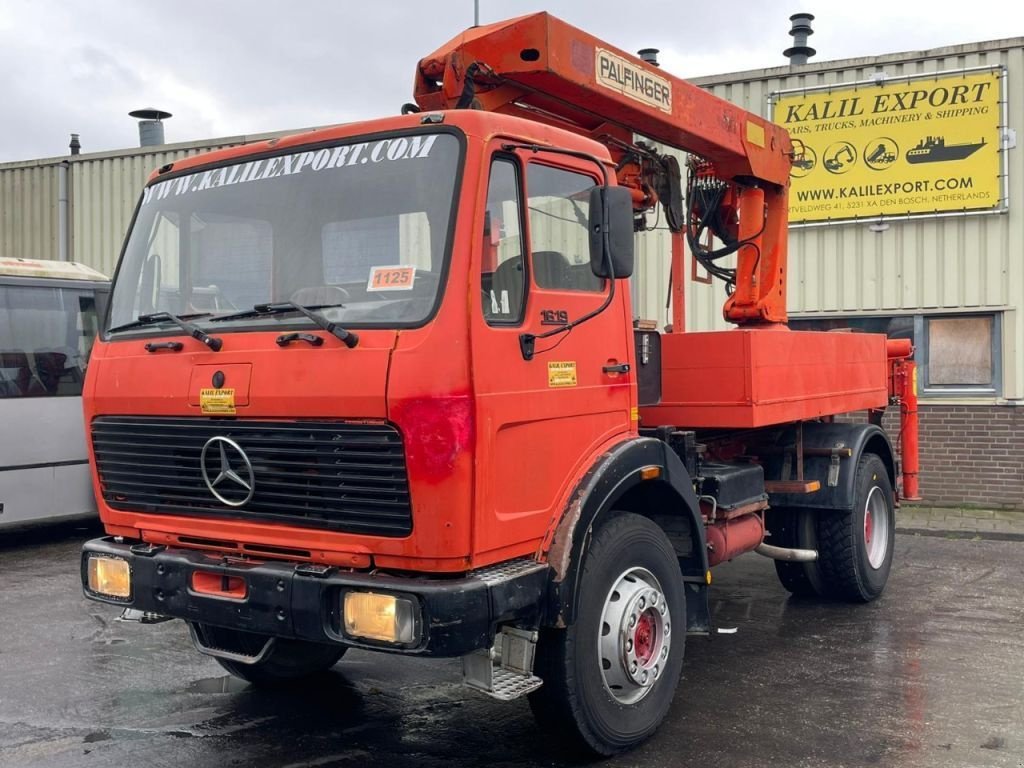
{"label": "wide building window with boarded pane, behind the truck's red bed", "polygon": [[791,318],[795,331],[851,330],[910,339],[923,397],[996,396],[1001,391],[998,313]]}

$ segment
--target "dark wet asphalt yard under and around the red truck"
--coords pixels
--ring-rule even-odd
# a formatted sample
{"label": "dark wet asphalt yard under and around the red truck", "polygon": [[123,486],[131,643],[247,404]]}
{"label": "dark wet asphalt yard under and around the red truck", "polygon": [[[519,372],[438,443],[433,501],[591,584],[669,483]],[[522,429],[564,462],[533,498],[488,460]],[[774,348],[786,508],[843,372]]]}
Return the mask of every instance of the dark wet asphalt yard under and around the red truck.
{"label": "dark wet asphalt yard under and around the red truck", "polygon": [[[457,660],[350,651],[314,684],[256,690],[180,622],[117,622],[81,595],[96,530],[0,539],[0,766],[579,766],[524,700],[460,685]],[[667,721],[606,766],[1024,766],[1024,543],[902,536],[889,588],[791,599],[772,564],[715,571]]]}

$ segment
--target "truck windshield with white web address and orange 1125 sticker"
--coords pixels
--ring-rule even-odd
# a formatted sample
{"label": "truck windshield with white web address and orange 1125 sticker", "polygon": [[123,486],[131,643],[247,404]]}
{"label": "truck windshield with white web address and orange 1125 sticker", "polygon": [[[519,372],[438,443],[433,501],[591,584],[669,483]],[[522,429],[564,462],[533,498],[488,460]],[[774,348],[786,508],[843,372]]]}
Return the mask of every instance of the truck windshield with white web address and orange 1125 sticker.
{"label": "truck windshield with white web address and orange 1125 sticker", "polygon": [[[345,327],[421,324],[439,298],[459,154],[452,133],[394,135],[152,184],[118,271],[110,327],[153,312],[217,315],[283,301],[329,305],[323,314]],[[217,330],[288,324],[309,321],[250,316]]]}

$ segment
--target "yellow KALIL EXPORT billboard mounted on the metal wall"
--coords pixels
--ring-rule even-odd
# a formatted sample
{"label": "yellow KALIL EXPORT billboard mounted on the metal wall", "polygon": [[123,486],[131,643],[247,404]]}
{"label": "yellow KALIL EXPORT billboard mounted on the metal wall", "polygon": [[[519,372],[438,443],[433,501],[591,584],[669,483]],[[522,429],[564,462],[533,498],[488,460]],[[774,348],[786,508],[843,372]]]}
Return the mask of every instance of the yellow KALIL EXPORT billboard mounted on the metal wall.
{"label": "yellow KALIL EXPORT billboard mounted on the metal wall", "polygon": [[792,223],[1005,208],[1001,69],[780,91]]}

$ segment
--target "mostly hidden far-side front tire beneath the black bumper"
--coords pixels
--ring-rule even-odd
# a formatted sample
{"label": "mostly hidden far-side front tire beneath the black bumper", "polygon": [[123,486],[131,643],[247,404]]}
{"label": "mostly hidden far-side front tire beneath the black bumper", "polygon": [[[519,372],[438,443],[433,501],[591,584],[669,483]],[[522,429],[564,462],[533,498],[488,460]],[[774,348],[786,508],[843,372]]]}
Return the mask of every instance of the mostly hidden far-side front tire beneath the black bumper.
{"label": "mostly hidden far-side front tire beneath the black bumper", "polygon": [[[199,625],[207,642],[218,648],[230,648],[255,655],[266,643],[265,635]],[[278,638],[273,648],[256,664],[243,664],[217,658],[217,664],[227,672],[253,685],[274,687],[304,680],[326,672],[338,663],[348,650],[344,645],[328,645],[305,640]]]}

